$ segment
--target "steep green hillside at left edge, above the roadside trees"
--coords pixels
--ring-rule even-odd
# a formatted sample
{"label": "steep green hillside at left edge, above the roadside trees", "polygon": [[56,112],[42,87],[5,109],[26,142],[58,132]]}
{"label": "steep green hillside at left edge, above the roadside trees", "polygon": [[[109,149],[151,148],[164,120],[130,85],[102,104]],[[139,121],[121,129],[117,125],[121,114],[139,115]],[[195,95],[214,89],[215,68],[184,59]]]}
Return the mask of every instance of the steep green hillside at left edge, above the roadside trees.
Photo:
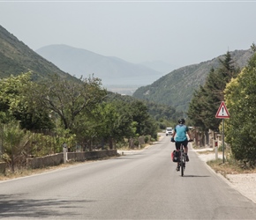
{"label": "steep green hillside at left edge, above the roadside trees", "polygon": [[36,54],[3,26],[0,26],[0,78],[18,76],[29,70],[33,72],[34,80],[49,77],[54,73],[75,79],[42,58],[41,55]]}

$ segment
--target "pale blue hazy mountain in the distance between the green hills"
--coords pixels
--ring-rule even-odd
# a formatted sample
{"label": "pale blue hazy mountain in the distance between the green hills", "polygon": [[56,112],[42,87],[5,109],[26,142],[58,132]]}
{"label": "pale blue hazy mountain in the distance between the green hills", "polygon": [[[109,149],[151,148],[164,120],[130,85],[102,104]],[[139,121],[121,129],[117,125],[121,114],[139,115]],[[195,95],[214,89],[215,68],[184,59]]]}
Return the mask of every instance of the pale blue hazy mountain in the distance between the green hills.
{"label": "pale blue hazy mountain in the distance between the green hills", "polygon": [[76,77],[94,77],[102,79],[103,85],[108,84],[152,84],[162,73],[141,64],[125,62],[117,57],[98,55],[82,48],[66,45],[49,45],[39,48],[36,52],[56,64],[61,70]]}

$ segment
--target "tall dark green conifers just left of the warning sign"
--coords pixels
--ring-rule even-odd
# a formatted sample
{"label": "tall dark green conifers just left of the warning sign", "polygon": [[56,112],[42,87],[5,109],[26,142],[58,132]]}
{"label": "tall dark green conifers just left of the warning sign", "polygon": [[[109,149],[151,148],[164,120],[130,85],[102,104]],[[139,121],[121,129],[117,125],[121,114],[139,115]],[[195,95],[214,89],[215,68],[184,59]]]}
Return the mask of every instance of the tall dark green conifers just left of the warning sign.
{"label": "tall dark green conifers just left of the warning sign", "polygon": [[188,116],[196,127],[202,130],[212,129],[218,131],[220,121],[215,119],[215,114],[223,97],[223,90],[232,77],[237,77],[238,69],[235,68],[230,52],[220,59],[220,68],[210,70],[206,83],[194,93],[188,109]]}

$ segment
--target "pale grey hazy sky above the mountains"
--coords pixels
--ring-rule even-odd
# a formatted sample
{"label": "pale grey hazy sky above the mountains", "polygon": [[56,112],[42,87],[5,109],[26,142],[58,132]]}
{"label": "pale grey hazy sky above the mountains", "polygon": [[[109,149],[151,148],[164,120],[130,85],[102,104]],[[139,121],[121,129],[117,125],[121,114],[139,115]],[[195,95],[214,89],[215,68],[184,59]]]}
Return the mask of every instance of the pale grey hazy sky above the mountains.
{"label": "pale grey hazy sky above the mountains", "polygon": [[66,44],[182,67],[256,42],[256,1],[1,1],[0,25],[34,50]]}

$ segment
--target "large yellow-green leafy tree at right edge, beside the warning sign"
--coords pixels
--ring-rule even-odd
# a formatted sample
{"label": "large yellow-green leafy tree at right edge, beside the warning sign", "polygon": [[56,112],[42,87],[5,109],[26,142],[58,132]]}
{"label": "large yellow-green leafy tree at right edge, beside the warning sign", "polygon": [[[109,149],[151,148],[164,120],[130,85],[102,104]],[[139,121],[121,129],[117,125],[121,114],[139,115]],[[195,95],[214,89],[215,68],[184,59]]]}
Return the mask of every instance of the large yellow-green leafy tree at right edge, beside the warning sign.
{"label": "large yellow-green leafy tree at right edge, beside the warning sign", "polygon": [[230,120],[226,122],[226,142],[237,160],[256,163],[256,54],[224,91]]}

